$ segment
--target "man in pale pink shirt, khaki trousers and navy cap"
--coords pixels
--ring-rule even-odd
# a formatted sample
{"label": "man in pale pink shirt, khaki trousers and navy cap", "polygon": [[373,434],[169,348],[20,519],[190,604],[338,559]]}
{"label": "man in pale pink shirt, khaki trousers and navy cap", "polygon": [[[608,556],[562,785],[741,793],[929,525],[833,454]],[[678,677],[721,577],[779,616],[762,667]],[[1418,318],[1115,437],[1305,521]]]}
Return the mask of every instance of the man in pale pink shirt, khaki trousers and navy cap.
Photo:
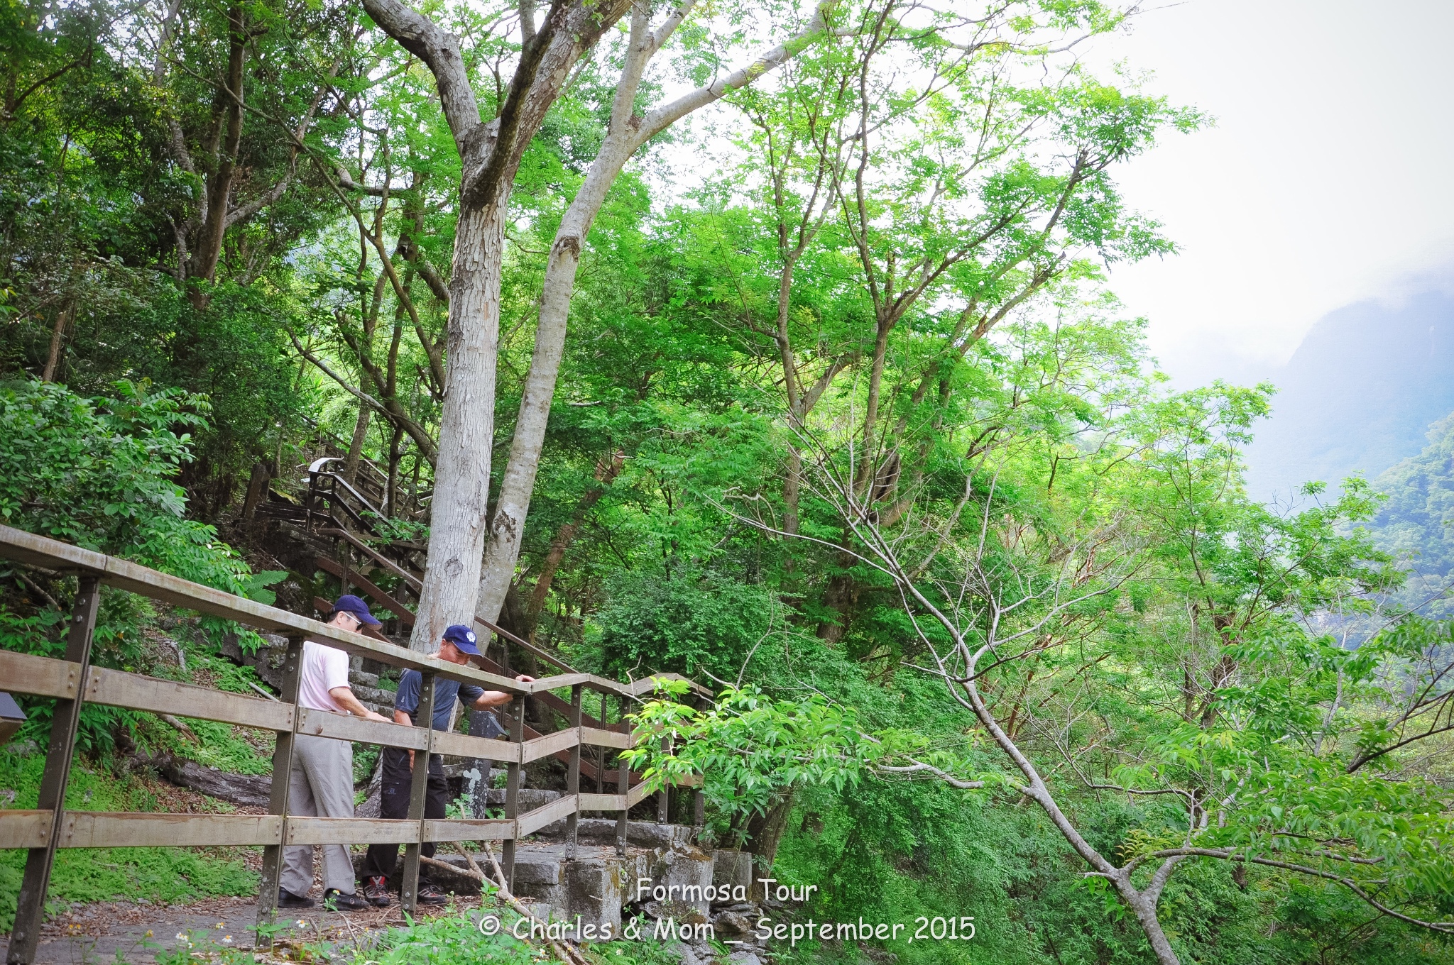
{"label": "man in pale pink shirt, khaki trousers and navy cap", "polygon": [[[342,631],[378,626],[368,605],[356,596],[340,596],[333,605],[329,625]],[[311,639],[302,644],[302,669],[298,677],[298,706],[334,714],[353,714],[391,724],[353,696],[349,687],[349,655],[336,647]],[[304,817],[353,817],[353,744],[349,741],[298,734],[292,744],[292,772],[288,775],[288,812]],[[279,908],[311,908],[313,846],[289,844],[282,849]],[[323,905],[339,911],[358,911],[368,904],[355,891],[353,860],[343,844],[323,846]]]}

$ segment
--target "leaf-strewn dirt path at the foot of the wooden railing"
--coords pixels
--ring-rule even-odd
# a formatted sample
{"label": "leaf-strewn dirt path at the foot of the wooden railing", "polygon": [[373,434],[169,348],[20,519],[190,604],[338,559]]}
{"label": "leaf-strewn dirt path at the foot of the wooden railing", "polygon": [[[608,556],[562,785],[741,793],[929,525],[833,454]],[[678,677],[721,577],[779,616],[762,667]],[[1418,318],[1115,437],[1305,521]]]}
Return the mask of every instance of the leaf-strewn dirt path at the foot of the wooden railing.
{"label": "leaf-strewn dirt path at the foot of the wooden railing", "polygon": [[[480,907],[478,897],[455,900],[455,910]],[[449,905],[422,908],[422,917],[432,917]],[[47,921],[41,930],[41,946],[35,961],[45,965],[81,965],[102,962],[156,962],[161,950],[176,949],[190,940],[196,950],[206,945],[220,948],[252,948],[256,920],[254,898],[206,898],[189,904],[156,905],[148,903],[105,901],[76,905]],[[297,916],[297,917],[285,917]],[[297,943],[350,943],[406,924],[398,904],[368,911],[337,913],[321,908],[288,908],[279,911],[279,923],[291,921],[278,934],[279,958],[288,961],[286,949]],[[300,926],[298,923],[304,924]],[[185,937],[179,939],[177,934]],[[9,937],[0,937],[0,958],[10,948]]]}

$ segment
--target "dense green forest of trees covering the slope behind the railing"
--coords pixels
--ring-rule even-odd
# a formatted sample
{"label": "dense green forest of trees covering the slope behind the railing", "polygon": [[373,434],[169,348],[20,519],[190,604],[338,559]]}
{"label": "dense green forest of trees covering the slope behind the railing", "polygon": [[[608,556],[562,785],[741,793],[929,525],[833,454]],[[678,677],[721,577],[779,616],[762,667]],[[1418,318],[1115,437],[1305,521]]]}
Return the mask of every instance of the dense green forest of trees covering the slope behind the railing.
{"label": "dense green forest of trees covering the slope behind the railing", "polygon": [[[781,962],[1454,962],[1454,626],[1322,631],[1403,587],[1364,525],[1438,512],[1450,442],[1386,504],[1249,496],[1271,388],[1170,391],[1106,280],[1175,254],[1118,166],[1207,122],[1077,60],[1124,13],[6,0],[0,520],[313,615],[336,459],[352,535],[427,561],[362,573],[395,642],[481,615],[689,676],[715,702],[643,703],[638,763],[817,885],[787,914],[976,923]],[[76,586],[0,564],[0,645],[60,653]],[[93,658],[247,692],[257,642],[108,591]],[[266,773],[87,711],[118,795]],[[121,888],[64,859],[61,898]]]}

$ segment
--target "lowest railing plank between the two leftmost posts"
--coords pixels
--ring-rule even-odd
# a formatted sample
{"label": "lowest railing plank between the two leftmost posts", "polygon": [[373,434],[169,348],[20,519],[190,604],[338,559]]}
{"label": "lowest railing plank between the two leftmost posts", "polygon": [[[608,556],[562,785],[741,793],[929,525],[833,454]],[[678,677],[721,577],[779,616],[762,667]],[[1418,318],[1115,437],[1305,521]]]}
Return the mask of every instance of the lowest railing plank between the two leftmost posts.
{"label": "lowest railing plank between the two leftmost posts", "polygon": [[129,814],[67,811],[61,847],[201,847],[273,844],[282,834],[276,814]]}

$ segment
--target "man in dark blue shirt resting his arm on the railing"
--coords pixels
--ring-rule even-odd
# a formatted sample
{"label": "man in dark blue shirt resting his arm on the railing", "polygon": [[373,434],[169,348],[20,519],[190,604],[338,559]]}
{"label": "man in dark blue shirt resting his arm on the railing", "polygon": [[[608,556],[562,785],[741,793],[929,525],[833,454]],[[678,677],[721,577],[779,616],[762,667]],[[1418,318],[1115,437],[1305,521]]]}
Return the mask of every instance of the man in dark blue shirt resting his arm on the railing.
{"label": "man in dark blue shirt resting his arm on the railing", "polygon": [[[439,641],[439,653],[432,654],[439,660],[468,666],[470,657],[480,654],[475,647],[474,631],[455,623],[445,629],[443,639]],[[414,711],[419,709],[419,690],[423,686],[423,676],[417,670],[406,670],[398,679],[398,693],[394,696],[394,722],[414,724]],[[516,680],[528,683],[534,677],[521,674]],[[484,690],[473,683],[459,683],[435,677],[435,714],[433,728],[448,731],[454,716],[455,700],[475,711],[503,706],[510,702],[510,695],[502,690]],[[503,732],[503,731],[499,731]],[[414,751],[400,747],[384,748],[384,786],[379,799],[381,818],[409,817],[409,791],[413,782]],[[449,805],[449,786],[445,783],[443,759],[439,754],[429,756],[429,785],[425,796],[425,817],[442,818]],[[426,843],[419,849],[425,857],[435,856],[435,846]],[[369,844],[368,856],[364,859],[364,898],[371,904],[384,907],[388,904],[388,876],[394,873],[398,862],[398,844]],[[443,904],[445,895],[430,882],[426,871],[419,875],[419,903]]]}

